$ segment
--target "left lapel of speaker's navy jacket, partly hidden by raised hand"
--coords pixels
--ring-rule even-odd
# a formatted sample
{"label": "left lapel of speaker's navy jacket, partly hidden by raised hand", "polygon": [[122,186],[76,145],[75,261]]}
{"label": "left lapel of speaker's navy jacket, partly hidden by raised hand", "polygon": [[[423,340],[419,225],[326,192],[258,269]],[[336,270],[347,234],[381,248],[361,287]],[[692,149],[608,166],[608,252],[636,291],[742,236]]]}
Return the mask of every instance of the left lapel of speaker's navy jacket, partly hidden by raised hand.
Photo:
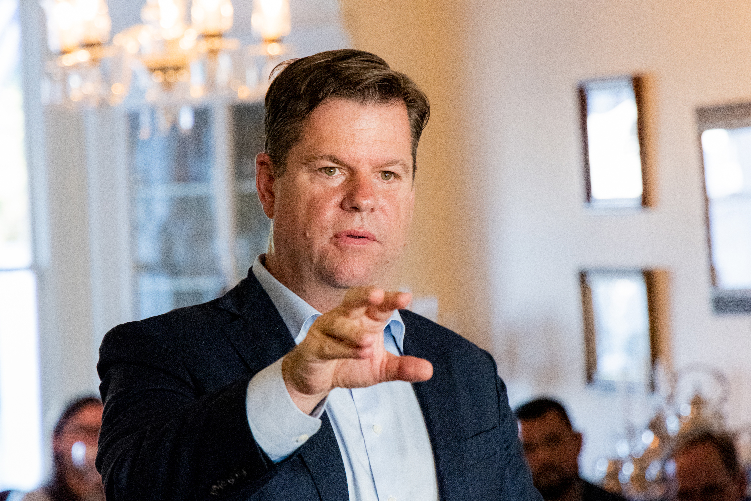
{"label": "left lapel of speaker's navy jacket, partly hidden by raised hand", "polygon": [[[222,329],[245,361],[252,375],[270,366],[294,348],[294,339],[276,306],[252,271],[217,303],[240,318]],[[324,412],[321,428],[303,447],[303,458],[324,501],[345,501],[349,493],[347,475],[336,435]]]}

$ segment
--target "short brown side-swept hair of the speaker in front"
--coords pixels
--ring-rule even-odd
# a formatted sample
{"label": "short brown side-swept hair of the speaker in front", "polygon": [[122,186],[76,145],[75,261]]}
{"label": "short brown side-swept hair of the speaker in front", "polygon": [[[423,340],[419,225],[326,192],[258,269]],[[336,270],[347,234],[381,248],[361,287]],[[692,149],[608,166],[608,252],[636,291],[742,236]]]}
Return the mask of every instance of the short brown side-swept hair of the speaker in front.
{"label": "short brown side-swept hair of the speaker in front", "polygon": [[363,105],[406,105],[415,178],[418,141],[430,116],[430,104],[406,74],[392,70],[375,54],[341,49],[282,62],[274,68],[274,75],[266,93],[264,148],[275,177],[284,174],[288,152],[303,135],[304,122],[313,110],[327,99],[344,98]]}

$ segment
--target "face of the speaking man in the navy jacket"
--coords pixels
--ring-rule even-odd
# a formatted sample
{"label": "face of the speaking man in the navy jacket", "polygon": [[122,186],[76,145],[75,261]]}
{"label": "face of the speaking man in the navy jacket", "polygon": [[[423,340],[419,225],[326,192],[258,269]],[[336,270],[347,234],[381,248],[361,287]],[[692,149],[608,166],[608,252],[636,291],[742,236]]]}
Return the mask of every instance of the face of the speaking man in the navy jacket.
{"label": "face of the speaking man in the navy jacket", "polygon": [[288,279],[335,288],[388,285],[414,203],[405,105],[324,101],[261,203],[273,219],[275,259],[293,275]]}

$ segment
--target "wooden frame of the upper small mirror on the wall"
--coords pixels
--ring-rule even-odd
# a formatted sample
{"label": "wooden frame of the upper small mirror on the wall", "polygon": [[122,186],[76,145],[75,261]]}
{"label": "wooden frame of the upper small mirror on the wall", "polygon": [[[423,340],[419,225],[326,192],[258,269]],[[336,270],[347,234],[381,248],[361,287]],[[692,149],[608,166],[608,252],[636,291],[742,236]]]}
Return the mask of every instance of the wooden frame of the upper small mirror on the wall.
{"label": "wooden frame of the upper small mirror on the wall", "polygon": [[[588,207],[605,209],[635,209],[647,207],[650,200],[647,195],[647,148],[644,126],[644,79],[641,75],[626,75],[620,77],[584,80],[578,84],[579,113],[581,123],[582,159],[584,164],[585,201]],[[641,194],[631,198],[595,198],[593,195],[592,168],[590,166],[590,134],[587,119],[590,116],[589,94],[597,90],[623,90],[632,92],[636,104],[636,132],[641,164]]]}

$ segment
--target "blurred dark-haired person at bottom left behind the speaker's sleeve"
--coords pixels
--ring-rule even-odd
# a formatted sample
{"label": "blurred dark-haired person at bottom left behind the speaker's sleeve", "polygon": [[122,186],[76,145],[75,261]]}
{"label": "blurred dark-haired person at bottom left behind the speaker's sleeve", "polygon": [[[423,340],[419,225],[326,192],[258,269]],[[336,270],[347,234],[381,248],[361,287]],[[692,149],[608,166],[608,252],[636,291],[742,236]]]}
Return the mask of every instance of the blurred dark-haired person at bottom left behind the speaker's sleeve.
{"label": "blurred dark-haired person at bottom left behind the speaker's sleeve", "polygon": [[23,501],[104,501],[94,460],[101,427],[101,400],[81,397],[68,403],[53,430],[53,475]]}

